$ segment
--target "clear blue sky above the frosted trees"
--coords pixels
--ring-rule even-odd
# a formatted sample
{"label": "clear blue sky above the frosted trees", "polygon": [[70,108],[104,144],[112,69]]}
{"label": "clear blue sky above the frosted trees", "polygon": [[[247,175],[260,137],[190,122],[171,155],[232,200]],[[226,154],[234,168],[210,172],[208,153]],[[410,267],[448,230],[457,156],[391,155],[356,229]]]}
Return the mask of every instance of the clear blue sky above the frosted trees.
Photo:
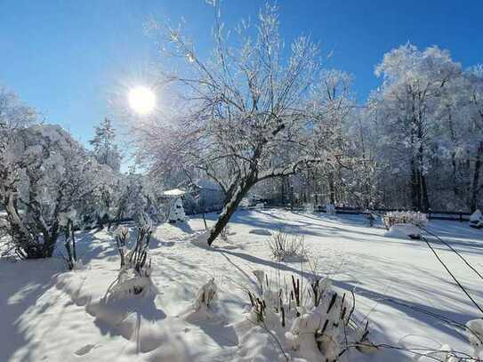
{"label": "clear blue sky above the frosted trees", "polygon": [[[358,100],[379,81],[374,65],[405,44],[437,44],[464,67],[483,63],[483,0],[279,0],[283,36],[310,34],[333,52],[328,68],[355,76]],[[262,1],[225,0],[225,22],[256,15]],[[112,113],[109,98],[142,83],[158,60],[150,18],[186,21],[207,49],[213,8],[204,0],[0,0],[0,84],[87,141]],[[149,82],[148,82],[149,83]]]}

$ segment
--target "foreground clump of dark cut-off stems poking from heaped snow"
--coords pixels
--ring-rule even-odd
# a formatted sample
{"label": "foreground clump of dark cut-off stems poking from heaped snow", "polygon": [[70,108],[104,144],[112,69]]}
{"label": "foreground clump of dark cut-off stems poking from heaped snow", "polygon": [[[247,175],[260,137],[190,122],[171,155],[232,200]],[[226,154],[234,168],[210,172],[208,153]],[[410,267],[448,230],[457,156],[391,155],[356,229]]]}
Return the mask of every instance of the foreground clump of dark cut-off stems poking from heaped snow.
{"label": "foreground clump of dark cut-off stems poking from heaped snow", "polygon": [[286,283],[280,274],[268,278],[255,270],[254,275],[259,290],[247,291],[251,305],[247,318],[271,331],[292,357],[341,361],[350,348],[362,353],[376,350],[369,341],[368,322],[361,325],[353,317],[353,297],[334,290],[330,279],[292,276]]}

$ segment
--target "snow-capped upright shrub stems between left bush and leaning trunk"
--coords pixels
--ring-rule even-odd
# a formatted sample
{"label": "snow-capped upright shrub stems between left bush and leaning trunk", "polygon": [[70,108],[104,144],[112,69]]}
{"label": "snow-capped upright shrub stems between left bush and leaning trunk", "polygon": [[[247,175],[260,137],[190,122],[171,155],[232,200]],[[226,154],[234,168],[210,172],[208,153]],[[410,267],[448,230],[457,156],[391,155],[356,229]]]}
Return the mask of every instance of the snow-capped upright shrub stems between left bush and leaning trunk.
{"label": "snow-capped upright shrub stems between left bush and leaning trunk", "polygon": [[[118,230],[116,242],[117,250],[121,256],[121,268],[116,284],[109,288],[109,294],[117,298],[133,294],[149,294],[154,289],[151,281],[151,261],[148,262],[149,240],[152,229],[149,225],[140,227],[132,249],[128,249],[126,246],[128,232],[125,229]],[[124,240],[123,237],[125,237]],[[124,245],[122,245],[123,243]]]}

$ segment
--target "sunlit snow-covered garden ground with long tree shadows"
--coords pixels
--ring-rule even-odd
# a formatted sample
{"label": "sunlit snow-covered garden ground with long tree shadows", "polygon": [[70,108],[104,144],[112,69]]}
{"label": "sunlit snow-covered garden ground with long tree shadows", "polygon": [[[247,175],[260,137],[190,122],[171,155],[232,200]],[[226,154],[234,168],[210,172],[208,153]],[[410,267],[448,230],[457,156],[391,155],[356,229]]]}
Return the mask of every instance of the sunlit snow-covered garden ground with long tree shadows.
{"label": "sunlit snow-covered garden ground with long tree shadows", "polygon": [[[216,215],[210,214],[209,224]],[[253,271],[306,276],[307,262],[270,257],[270,233],[303,235],[306,251],[334,287],[356,294],[356,315],[367,318],[371,341],[405,348],[448,344],[471,353],[458,328],[423,309],[464,324],[480,317],[421,240],[384,237],[361,216],[326,216],[281,210],[238,211],[228,242],[207,248],[189,241],[204,229],[199,218],[157,227],[151,240],[152,280],[157,294],[103,304],[117,278],[113,233],[78,234],[84,269],[66,271],[60,258],[0,261],[0,361],[271,361],[278,346],[269,334],[244,325],[254,287]],[[483,231],[467,223],[431,221],[435,232],[483,269]],[[215,242],[216,244],[216,242]],[[474,298],[483,303],[481,280],[444,245],[437,250]],[[192,312],[201,286],[214,278],[218,301],[211,318]],[[356,360],[411,360],[397,349]],[[302,360],[302,359],[299,359]]]}

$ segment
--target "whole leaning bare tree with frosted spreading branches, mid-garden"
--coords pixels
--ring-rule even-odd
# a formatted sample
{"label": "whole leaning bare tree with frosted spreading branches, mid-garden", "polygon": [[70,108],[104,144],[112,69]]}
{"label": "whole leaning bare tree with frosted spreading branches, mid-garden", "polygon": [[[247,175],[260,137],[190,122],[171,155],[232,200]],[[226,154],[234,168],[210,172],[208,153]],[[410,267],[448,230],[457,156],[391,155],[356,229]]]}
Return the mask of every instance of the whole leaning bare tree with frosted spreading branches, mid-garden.
{"label": "whole leaning bare tree with frosted spreading branches, mid-garden", "polygon": [[[170,89],[182,94],[182,111],[177,119],[144,124],[149,132],[138,132],[154,170],[198,169],[224,190],[225,206],[208,237],[210,245],[255,184],[320,159],[305,142],[318,46],[299,36],[286,49],[276,6],[267,4],[254,26],[244,23],[229,39],[218,2],[215,10],[208,60],[179,28],[165,29],[164,49],[184,61],[179,73],[165,74]],[[292,152],[283,154],[287,145]]]}

